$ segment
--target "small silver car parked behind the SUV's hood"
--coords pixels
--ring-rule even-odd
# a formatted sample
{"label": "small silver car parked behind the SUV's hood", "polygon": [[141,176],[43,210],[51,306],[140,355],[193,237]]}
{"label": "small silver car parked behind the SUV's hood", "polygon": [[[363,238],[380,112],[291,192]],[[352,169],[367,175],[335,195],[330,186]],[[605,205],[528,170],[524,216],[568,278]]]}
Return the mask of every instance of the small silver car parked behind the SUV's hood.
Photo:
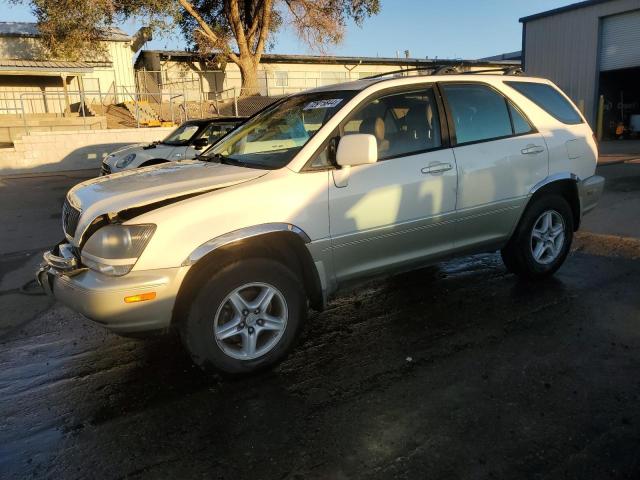
{"label": "small silver car parked behind the SUV's hood", "polygon": [[127,145],[109,154],[102,162],[100,174],[192,159],[245,120],[241,117],[189,120],[162,141]]}

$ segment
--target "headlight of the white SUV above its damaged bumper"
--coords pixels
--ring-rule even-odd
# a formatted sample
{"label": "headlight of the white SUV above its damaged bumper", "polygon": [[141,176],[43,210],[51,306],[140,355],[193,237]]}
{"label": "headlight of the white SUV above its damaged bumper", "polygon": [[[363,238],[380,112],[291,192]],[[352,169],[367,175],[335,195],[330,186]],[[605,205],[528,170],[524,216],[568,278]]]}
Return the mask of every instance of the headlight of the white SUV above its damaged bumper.
{"label": "headlight of the white SUV above its damaged bumper", "polygon": [[107,225],[91,235],[80,254],[92,270],[118,277],[131,271],[151,240],[156,226]]}

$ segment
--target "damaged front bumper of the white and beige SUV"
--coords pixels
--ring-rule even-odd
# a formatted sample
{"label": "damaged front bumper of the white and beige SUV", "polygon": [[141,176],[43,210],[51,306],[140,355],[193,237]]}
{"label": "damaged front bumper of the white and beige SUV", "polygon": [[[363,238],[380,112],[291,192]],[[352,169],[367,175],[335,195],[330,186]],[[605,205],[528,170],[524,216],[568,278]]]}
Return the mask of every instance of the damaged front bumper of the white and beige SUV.
{"label": "damaged front bumper of the white and beige SUV", "polygon": [[[189,267],[133,271],[111,277],[83,267],[74,248],[62,243],[43,254],[36,278],[48,295],[116,333],[143,333],[171,326]],[[153,292],[147,301],[125,298]]]}

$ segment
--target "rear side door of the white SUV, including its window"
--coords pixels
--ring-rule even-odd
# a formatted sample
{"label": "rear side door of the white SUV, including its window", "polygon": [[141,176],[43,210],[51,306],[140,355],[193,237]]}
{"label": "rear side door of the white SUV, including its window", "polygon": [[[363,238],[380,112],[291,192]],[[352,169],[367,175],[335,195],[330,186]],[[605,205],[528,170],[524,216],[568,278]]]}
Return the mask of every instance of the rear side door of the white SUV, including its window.
{"label": "rear side door of the white SUV, including its window", "polygon": [[440,87],[458,167],[456,250],[498,245],[511,233],[531,189],[548,175],[545,140],[490,85]]}

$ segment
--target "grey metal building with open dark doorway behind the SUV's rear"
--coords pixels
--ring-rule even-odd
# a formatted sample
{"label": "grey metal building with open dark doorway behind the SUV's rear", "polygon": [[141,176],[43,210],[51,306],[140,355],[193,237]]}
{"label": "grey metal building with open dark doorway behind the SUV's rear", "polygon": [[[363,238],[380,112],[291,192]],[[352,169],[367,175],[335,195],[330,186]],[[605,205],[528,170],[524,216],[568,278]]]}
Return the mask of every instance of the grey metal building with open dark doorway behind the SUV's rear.
{"label": "grey metal building with open dark doorway behind the SUV's rear", "polygon": [[558,84],[604,138],[640,136],[640,0],[588,0],[520,22],[527,74]]}

